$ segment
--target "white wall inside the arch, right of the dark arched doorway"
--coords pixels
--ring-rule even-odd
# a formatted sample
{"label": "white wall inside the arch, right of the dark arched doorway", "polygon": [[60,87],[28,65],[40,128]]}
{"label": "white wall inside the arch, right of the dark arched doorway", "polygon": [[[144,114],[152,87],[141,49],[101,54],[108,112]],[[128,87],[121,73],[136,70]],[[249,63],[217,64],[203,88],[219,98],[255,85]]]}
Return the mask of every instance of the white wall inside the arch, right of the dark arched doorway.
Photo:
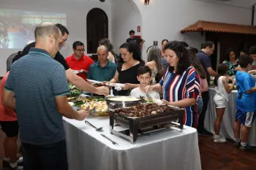
{"label": "white wall inside the arch, right of the dark arched doorway", "polygon": [[[132,0],[111,1],[112,39],[111,42],[118,53],[120,45],[129,38],[129,31],[134,30],[135,35],[141,35],[142,18],[140,11]],[[140,26],[140,32],[137,28]],[[143,37],[142,37],[143,38]]]}

